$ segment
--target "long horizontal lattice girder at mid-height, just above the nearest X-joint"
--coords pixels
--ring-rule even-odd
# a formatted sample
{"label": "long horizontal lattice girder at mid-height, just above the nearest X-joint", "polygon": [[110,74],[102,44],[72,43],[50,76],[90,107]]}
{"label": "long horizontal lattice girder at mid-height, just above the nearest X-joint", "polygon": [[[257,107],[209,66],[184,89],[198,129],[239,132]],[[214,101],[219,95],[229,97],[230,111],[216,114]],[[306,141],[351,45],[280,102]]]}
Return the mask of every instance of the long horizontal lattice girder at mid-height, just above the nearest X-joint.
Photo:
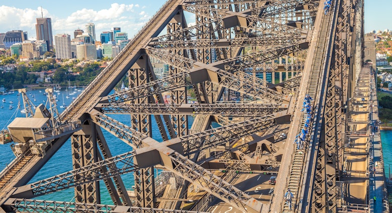
{"label": "long horizontal lattice girder at mid-height, just above the nearest X-joint", "polygon": [[257,104],[222,102],[216,104],[97,104],[96,108],[106,114],[157,114],[157,115],[268,115],[287,109],[281,104]]}

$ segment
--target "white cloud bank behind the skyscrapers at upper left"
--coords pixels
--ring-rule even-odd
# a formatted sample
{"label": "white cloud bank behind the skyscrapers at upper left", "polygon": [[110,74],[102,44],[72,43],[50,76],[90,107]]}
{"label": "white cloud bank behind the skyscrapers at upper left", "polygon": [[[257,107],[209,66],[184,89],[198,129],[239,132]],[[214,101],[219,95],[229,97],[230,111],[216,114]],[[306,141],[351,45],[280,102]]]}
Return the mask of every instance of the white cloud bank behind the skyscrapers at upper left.
{"label": "white cloud bank behind the skyscrapers at upper left", "polygon": [[[145,11],[135,11],[135,8],[140,8],[140,5],[114,3],[110,5],[110,8],[103,10],[77,10],[65,18],[52,15],[45,8],[42,11],[44,17],[52,18],[53,35],[66,33],[73,38],[74,30],[80,28],[84,31],[87,23],[94,23],[95,36],[99,40],[101,32],[110,31],[113,27],[121,27],[121,31],[127,32],[128,37],[131,38],[150,18]],[[41,7],[34,10],[0,6],[0,11],[2,33],[23,30],[28,32],[29,39],[35,39],[36,18],[41,17]]]}

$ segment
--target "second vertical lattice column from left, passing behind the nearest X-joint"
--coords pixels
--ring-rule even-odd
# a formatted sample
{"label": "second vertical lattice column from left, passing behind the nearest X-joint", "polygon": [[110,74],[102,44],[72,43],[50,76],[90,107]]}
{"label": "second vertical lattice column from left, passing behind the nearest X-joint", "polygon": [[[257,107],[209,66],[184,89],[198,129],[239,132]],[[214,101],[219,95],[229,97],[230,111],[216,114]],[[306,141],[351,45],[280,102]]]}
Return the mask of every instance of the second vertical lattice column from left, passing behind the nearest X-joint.
{"label": "second vertical lattice column from left, passing behind the nearest X-joint", "polygon": [[[146,55],[143,55],[129,70],[128,81],[130,88],[148,83],[149,73],[146,66],[146,57]],[[136,99],[133,102],[150,103],[150,98],[153,97],[143,97]],[[137,131],[150,137],[152,136],[151,115],[131,115],[131,125]],[[134,178],[137,205],[141,207],[154,207],[154,167],[135,171]]]}

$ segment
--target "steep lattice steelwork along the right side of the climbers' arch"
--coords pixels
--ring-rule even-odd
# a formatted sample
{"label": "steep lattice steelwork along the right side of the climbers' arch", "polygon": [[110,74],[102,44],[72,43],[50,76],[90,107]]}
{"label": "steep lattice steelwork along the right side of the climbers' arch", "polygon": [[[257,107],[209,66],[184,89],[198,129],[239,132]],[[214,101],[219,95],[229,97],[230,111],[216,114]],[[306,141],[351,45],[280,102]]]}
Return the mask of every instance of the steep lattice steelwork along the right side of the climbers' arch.
{"label": "steep lattice steelwork along the right side of the climbers' arch", "polygon": [[[341,1],[335,1],[334,17],[332,17],[332,24],[337,25],[338,15],[341,12]],[[332,11],[330,12],[332,13]],[[336,29],[331,31],[332,44],[335,44]],[[336,73],[340,72],[334,70],[334,60],[336,55],[336,46],[328,47],[331,49],[330,61],[326,61],[327,73],[326,75],[326,91],[325,91],[325,105],[323,112],[322,129],[320,136],[320,144],[317,154],[317,165],[315,171],[314,192],[312,198],[313,212],[337,212],[337,186],[336,186],[336,170],[337,170],[337,118],[336,110],[340,107],[336,102]],[[332,68],[332,69],[330,69]]]}

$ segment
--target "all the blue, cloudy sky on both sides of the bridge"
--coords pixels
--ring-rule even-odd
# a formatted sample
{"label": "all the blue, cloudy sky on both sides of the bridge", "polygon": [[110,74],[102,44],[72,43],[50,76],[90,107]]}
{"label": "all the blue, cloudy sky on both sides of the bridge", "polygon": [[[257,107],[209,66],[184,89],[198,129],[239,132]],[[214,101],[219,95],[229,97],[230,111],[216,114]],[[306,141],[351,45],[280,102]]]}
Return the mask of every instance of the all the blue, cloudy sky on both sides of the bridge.
{"label": "all the blue, cloudy sky on both sides of the bridge", "polygon": [[[78,27],[85,30],[85,24],[95,24],[96,36],[113,27],[121,27],[132,36],[146,23],[165,0],[117,0],[112,1],[56,1],[13,0],[0,2],[0,32],[23,30],[30,39],[35,39],[36,18],[52,18],[53,34],[73,35]],[[188,20],[188,22],[192,22]],[[392,4],[390,0],[365,0],[365,32],[385,30],[392,23]]]}

